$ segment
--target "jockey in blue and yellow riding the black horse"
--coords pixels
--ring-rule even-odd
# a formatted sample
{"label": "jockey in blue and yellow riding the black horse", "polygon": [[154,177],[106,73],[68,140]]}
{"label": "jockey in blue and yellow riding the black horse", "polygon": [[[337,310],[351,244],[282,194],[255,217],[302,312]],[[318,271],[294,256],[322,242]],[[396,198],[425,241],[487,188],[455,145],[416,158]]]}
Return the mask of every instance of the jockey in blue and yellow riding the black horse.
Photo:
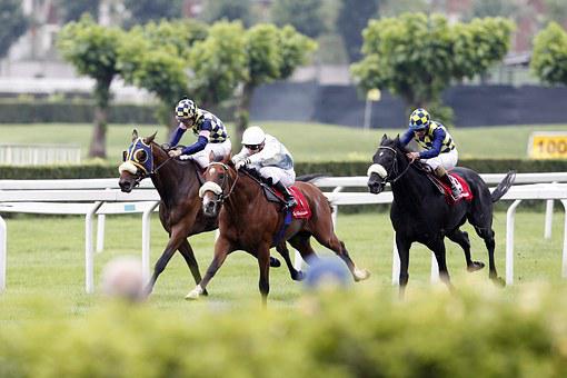
{"label": "jockey in blue and yellow riding the black horse", "polygon": [[447,170],[457,166],[459,153],[445,126],[432,121],[427,110],[416,109],[409,117],[409,129],[400,138],[401,146],[408,145],[411,139],[422,148],[422,151],[408,152],[408,159],[411,161],[420,159],[431,167],[435,175],[451,188],[452,197],[458,198],[460,188],[449,179]]}

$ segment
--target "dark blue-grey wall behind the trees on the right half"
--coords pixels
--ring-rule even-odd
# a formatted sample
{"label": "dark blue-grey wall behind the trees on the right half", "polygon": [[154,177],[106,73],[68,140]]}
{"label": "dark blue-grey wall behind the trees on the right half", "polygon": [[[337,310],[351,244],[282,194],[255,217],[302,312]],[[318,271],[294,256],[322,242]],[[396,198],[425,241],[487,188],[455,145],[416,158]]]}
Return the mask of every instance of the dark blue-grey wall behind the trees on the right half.
{"label": "dark blue-grey wall behind the trees on the right half", "polygon": [[[456,86],[442,98],[458,127],[567,123],[566,87]],[[279,82],[256,91],[250,117],[362,127],[364,113],[365,101],[354,86]],[[372,103],[371,113],[372,128],[406,125],[405,103],[388,92]]]}

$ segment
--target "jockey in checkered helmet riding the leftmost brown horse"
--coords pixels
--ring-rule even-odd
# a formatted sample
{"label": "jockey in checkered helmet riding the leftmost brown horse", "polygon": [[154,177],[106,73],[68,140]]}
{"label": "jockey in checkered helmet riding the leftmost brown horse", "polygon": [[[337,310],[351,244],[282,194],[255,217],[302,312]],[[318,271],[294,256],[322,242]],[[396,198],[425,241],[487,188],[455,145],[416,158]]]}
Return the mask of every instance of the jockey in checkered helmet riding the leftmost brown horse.
{"label": "jockey in checkered helmet riding the leftmost brown horse", "polygon": [[206,168],[209,163],[210,151],[215,153],[216,158],[230,156],[232,147],[227,129],[215,115],[197,108],[192,100],[182,99],[176,107],[176,119],[179,121],[179,126],[169,145],[166,146],[167,149],[177,146],[188,128],[191,128],[198,139],[197,142],[182,150],[170,150],[168,152],[170,157],[177,158],[182,155],[181,159],[192,159],[201,168]]}

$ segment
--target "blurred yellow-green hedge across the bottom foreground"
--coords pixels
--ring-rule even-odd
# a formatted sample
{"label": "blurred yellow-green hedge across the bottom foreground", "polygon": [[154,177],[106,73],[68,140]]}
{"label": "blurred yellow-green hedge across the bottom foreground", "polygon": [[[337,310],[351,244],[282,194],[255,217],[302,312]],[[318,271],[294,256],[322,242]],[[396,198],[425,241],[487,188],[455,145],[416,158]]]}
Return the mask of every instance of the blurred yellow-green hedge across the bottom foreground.
{"label": "blurred yellow-green hedge across the bottom foreground", "polygon": [[145,306],[100,305],[80,320],[1,327],[0,376],[567,375],[565,288],[503,295],[493,286],[475,287],[478,292],[412,291],[405,302],[392,300],[391,291],[357,288],[279,310],[255,304],[207,311],[180,302],[183,318]]}

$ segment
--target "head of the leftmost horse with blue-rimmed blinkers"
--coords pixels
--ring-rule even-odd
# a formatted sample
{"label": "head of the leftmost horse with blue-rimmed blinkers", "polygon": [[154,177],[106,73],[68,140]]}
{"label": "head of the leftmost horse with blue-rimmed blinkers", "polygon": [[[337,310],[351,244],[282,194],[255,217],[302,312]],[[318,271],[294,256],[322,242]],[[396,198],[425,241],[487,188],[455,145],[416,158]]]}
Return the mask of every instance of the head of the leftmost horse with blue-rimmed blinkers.
{"label": "head of the leftmost horse with blue-rimmed blinkers", "polygon": [[118,167],[120,179],[118,185],[125,192],[130,192],[146,177],[153,171],[153,153],[151,143],[156,138],[156,132],[148,138],[138,136],[135,129],[132,132],[132,143],[128,150],[122,152],[123,162]]}

